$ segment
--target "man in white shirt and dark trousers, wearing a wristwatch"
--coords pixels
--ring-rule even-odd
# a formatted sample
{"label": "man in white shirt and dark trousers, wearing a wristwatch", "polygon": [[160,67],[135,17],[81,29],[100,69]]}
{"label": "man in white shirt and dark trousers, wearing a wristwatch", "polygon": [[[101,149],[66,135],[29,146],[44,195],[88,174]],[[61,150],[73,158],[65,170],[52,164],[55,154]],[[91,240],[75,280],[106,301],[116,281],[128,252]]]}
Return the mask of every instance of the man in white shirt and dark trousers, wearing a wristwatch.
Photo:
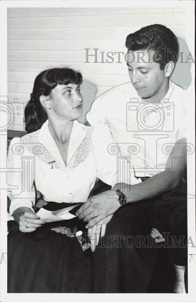
{"label": "man in white shirt and dark trousers, wearing a wristwatch", "polygon": [[[97,194],[77,211],[89,221],[88,228],[99,227],[103,219],[108,223],[115,213],[105,237],[113,236],[112,246],[102,244],[102,238],[94,254],[97,292],[147,292],[157,252],[147,244],[151,227],[168,233],[165,244],[172,262],[187,262],[188,100],[185,90],[169,79],[179,56],[178,40],[169,28],[154,24],[129,34],[126,47],[132,87],[125,83],[103,93],[86,117],[91,126],[109,126],[121,156],[130,160],[130,172],[142,183],[117,180],[107,198]],[[123,236],[121,248],[115,242],[118,236]],[[137,246],[142,236],[143,245]],[[181,237],[184,248],[175,244]]]}

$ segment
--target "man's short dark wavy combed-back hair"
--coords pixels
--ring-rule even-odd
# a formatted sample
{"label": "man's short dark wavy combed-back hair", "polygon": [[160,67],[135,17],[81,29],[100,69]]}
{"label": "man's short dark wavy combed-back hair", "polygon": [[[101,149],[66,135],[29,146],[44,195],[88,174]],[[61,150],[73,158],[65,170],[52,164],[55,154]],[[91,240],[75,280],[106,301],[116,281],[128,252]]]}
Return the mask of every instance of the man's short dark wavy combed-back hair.
{"label": "man's short dark wavy combed-back hair", "polygon": [[164,70],[167,63],[176,63],[179,56],[179,43],[171,29],[161,24],[142,27],[129,34],[125,46],[128,51],[152,51],[153,59]]}

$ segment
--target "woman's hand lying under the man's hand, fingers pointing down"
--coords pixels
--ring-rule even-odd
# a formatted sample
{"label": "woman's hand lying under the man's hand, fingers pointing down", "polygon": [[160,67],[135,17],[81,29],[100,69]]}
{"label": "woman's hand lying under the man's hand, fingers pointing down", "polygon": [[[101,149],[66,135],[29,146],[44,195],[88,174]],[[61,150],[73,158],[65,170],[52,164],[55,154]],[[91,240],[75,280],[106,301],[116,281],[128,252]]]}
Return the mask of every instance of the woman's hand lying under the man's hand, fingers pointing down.
{"label": "woman's hand lying under the man's hand, fingers pointing down", "polygon": [[112,215],[109,215],[105,219],[101,220],[99,223],[97,223],[92,228],[88,229],[88,238],[90,239],[90,248],[91,251],[95,251],[95,247],[98,245],[99,238],[100,238],[100,232],[101,237],[103,237],[106,233],[106,225],[109,223],[109,221],[112,219]]}

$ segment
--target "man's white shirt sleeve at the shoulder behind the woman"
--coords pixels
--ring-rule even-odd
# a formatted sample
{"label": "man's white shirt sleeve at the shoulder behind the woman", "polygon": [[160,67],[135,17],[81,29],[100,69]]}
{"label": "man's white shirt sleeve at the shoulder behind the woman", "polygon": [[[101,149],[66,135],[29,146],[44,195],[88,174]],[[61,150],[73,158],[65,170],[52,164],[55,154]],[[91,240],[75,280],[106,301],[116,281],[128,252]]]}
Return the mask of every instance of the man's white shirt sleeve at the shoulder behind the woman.
{"label": "man's white shirt sleeve at the shoulder behind the woman", "polygon": [[107,101],[104,93],[99,95],[92,103],[90,110],[86,114],[86,120],[95,127],[98,124],[107,124]]}

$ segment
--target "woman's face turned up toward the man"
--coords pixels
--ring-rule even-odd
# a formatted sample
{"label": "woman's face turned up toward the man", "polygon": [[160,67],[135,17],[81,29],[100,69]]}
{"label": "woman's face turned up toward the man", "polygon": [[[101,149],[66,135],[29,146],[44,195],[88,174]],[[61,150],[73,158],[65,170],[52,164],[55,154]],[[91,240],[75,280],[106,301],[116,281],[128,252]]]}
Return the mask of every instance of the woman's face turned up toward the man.
{"label": "woman's face turned up toward the man", "polygon": [[57,85],[51,93],[51,114],[73,120],[82,114],[80,86],[76,84]]}

